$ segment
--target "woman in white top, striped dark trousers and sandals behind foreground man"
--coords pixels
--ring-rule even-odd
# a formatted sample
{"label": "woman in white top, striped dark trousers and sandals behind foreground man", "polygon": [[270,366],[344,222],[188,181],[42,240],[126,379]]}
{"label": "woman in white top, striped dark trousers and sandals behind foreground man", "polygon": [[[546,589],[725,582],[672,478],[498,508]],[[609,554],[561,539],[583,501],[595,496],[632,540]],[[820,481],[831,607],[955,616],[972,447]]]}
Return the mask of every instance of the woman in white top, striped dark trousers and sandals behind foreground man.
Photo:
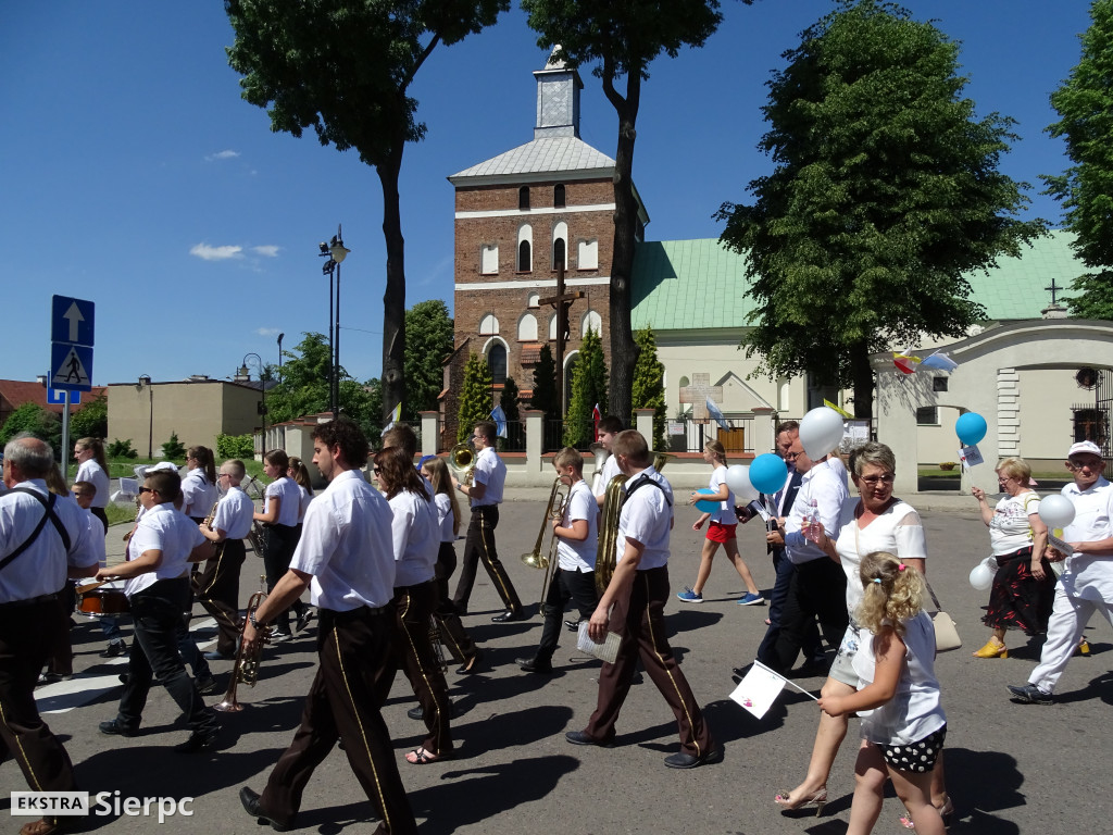
{"label": "woman in white top, striped dark trousers and sandals behind foreground man", "polygon": [[427,734],[406,754],[406,762],[426,765],[452,757],[449,686],[430,640],[430,619],[436,609],[434,564],[441,548],[441,527],[425,482],[401,446],[375,454],[375,475],[394,521],[394,600],[397,612],[397,664],[421,703]]}

